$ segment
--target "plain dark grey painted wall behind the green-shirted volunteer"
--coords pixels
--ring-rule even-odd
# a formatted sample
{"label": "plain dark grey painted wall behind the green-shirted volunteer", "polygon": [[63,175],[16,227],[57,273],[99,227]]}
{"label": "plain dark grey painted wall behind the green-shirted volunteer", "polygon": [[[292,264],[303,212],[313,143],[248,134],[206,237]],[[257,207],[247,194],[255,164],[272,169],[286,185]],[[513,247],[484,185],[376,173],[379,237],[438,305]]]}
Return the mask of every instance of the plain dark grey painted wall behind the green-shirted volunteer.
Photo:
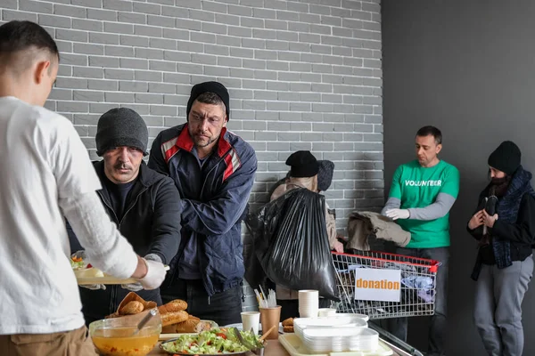
{"label": "plain dark grey painted wall behind the green-shirted volunteer", "polygon": [[[484,355],[473,327],[475,243],[465,232],[486,184],[487,158],[514,140],[535,169],[535,3],[383,0],[384,163],[386,194],[397,165],[414,158],[414,135],[436,125],[441,158],[461,172],[451,212],[449,355]],[[535,293],[523,302],[524,355],[535,354]],[[409,342],[426,343],[426,322],[412,320]]]}

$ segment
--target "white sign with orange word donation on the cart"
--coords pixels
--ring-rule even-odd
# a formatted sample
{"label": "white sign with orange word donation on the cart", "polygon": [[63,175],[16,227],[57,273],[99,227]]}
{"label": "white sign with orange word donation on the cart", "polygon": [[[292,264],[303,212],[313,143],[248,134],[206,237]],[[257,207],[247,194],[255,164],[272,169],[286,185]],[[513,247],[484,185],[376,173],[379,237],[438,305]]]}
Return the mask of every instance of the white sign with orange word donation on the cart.
{"label": "white sign with orange word donation on the cart", "polygon": [[358,268],[355,272],[355,299],[399,302],[401,271]]}

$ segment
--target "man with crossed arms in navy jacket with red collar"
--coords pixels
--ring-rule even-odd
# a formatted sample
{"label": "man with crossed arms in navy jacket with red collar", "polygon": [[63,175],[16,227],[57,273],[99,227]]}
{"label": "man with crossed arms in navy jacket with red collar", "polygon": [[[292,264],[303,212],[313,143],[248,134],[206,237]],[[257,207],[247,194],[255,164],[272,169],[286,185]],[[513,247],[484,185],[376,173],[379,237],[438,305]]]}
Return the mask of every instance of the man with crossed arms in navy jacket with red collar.
{"label": "man with crossed arms in navy jacket with red collar", "polygon": [[193,85],[186,123],[158,134],[149,158],[175,181],[183,208],[182,241],[162,299],[183,299],[188,312],[219,325],[241,321],[241,221],[257,169],[251,145],[226,130],[229,101],[218,82]]}

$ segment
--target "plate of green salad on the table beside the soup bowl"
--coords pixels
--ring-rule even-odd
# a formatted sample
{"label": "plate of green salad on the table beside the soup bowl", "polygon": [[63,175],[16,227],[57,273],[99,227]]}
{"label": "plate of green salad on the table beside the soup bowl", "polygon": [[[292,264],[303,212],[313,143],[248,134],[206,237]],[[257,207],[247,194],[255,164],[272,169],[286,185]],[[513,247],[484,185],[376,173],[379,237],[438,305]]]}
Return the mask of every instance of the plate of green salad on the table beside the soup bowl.
{"label": "plate of green salad on the table beside the soup bowl", "polygon": [[[252,345],[262,345],[259,336],[250,331],[240,331],[243,339]],[[249,355],[251,350],[244,346],[231,329],[212,328],[199,334],[185,334],[160,344],[161,350],[172,355]],[[261,350],[261,349],[260,349]]]}

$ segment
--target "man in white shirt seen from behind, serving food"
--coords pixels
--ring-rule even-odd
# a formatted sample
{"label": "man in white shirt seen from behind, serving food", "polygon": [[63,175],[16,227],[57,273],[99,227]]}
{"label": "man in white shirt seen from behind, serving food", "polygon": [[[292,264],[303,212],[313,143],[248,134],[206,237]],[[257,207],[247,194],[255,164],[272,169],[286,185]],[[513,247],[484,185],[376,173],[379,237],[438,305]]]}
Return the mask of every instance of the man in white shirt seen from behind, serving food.
{"label": "man in white shirt seen from behind, serving food", "polygon": [[104,212],[101,184],[70,121],[43,108],[59,53],[37,24],[0,26],[0,350],[95,355],[86,338],[63,216],[87,259],[160,287],[162,263],[134,253]]}

